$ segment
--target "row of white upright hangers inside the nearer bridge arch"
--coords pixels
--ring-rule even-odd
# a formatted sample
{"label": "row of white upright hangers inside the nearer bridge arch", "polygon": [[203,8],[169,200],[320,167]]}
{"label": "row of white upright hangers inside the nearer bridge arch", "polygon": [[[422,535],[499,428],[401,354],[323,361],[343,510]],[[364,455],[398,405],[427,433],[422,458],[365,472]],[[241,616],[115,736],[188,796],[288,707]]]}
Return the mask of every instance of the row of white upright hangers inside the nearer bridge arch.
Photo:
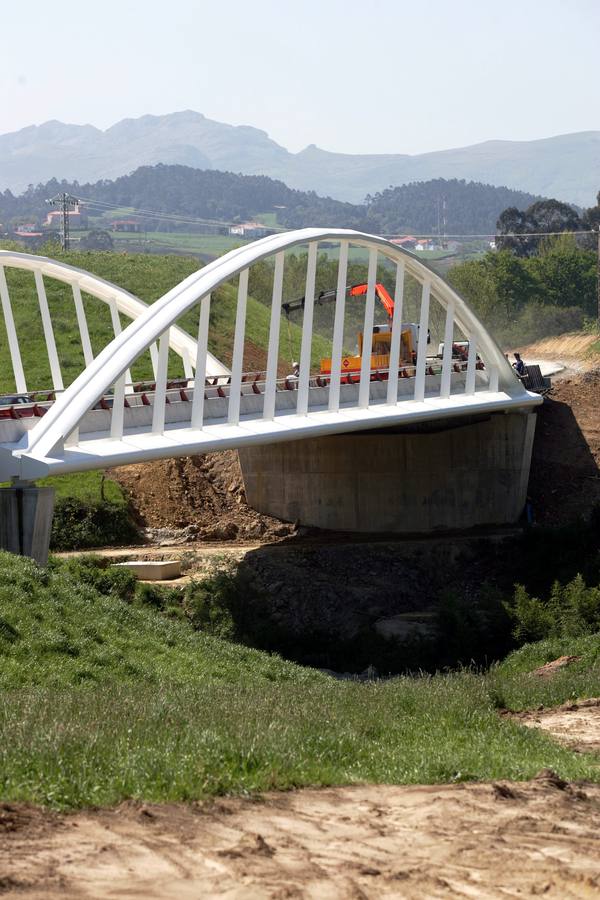
{"label": "row of white upright hangers inside the nearer bridge arch", "polygon": [[[260,242],[259,242],[260,243]],[[356,375],[347,375],[342,367],[344,352],[344,327],[346,286],[348,281],[348,259],[352,242],[341,239],[339,242],[339,261],[337,273],[337,296],[335,302],[335,315],[333,322],[333,335],[331,339],[331,371],[327,375],[321,375],[311,367],[311,350],[314,335],[314,307],[317,299],[316,272],[318,265],[319,242],[309,241],[306,246],[306,279],[304,285],[304,304],[302,313],[302,338],[299,353],[299,372],[297,376],[288,375],[280,377],[280,337],[283,298],[283,281],[285,270],[285,251],[274,252],[272,295],[270,305],[269,336],[266,349],[267,360],[264,372],[257,373],[251,387],[248,387],[247,376],[243,373],[245,325],[247,318],[248,284],[250,267],[243,268],[237,273],[237,304],[235,314],[235,330],[233,337],[231,374],[217,387],[206,385],[204,391],[196,390],[193,393],[190,412],[190,427],[201,429],[207,421],[206,401],[217,396],[226,397],[227,415],[226,422],[237,425],[240,416],[243,415],[243,397],[252,390],[262,397],[260,415],[263,419],[272,420],[277,412],[277,394],[279,391],[289,389],[293,383],[296,391],[295,413],[298,416],[308,415],[311,410],[323,409],[323,397],[315,393],[314,389],[326,387],[328,391],[326,409],[330,413],[340,410],[341,388],[344,384],[354,383],[357,388],[353,405],[358,409],[368,409],[374,402],[385,402],[396,407],[400,399],[402,401],[424,401],[431,392],[435,392],[440,398],[449,398],[453,393],[460,392],[465,396],[475,393],[476,386],[479,390],[497,392],[499,385],[499,366],[504,364],[504,359],[492,358],[486,365],[482,356],[488,356],[484,348],[485,341],[481,340],[481,329],[478,323],[468,322],[462,311],[457,310],[454,298],[448,300],[446,291],[439,291],[439,279],[435,273],[422,267],[418,261],[407,259],[404,255],[395,260],[394,271],[394,315],[392,321],[392,339],[390,345],[389,364],[376,372],[371,369],[371,350],[373,342],[373,326],[375,319],[375,284],[378,271],[379,246],[371,246],[370,242],[363,241],[359,244],[363,249],[365,244],[368,249],[367,265],[367,291],[363,320],[363,347],[360,371]],[[400,254],[399,254],[400,255]],[[401,354],[401,325],[404,309],[404,293],[407,276],[413,278],[418,275],[420,283],[419,298],[419,322],[416,359],[410,365],[402,363]],[[220,282],[222,283],[222,282]],[[445,286],[447,288],[447,286]],[[214,302],[213,293],[210,292],[199,298],[199,320],[197,336],[197,357],[194,369],[202,371],[206,364],[206,354],[209,340],[209,323],[211,304]],[[425,336],[430,331],[430,313],[432,304],[438,303],[444,310],[443,338],[444,352],[441,360],[432,360],[429,354],[429,345]],[[461,328],[462,326],[462,328]],[[456,337],[456,329],[460,329],[460,336],[468,341],[468,354],[464,362],[458,362],[453,357],[452,346]],[[168,371],[167,371],[167,340],[168,331],[163,332],[159,338],[157,377],[153,390],[152,405],[154,407],[152,432],[162,434],[165,429],[164,408],[167,399]],[[497,349],[497,348],[496,348]],[[464,372],[464,377],[454,379],[456,371]],[[480,373],[479,383],[477,375]],[[260,377],[258,375],[260,374]],[[411,391],[399,390],[401,379],[411,378]],[[512,373],[509,377],[514,383]],[[246,380],[245,380],[246,379]],[[293,379],[293,381],[292,381]],[[381,389],[375,390],[374,384],[385,380],[385,394],[382,397]],[[405,386],[402,385],[404,388]],[[212,389],[211,389],[212,388]],[[376,396],[375,396],[376,395]],[[115,412],[111,423],[111,436],[120,438],[126,427],[124,416],[119,409],[124,406],[125,381],[123,376],[115,385]],[[287,406],[287,404],[286,404]],[[256,415],[256,409],[254,410]],[[210,417],[209,417],[210,418]]]}

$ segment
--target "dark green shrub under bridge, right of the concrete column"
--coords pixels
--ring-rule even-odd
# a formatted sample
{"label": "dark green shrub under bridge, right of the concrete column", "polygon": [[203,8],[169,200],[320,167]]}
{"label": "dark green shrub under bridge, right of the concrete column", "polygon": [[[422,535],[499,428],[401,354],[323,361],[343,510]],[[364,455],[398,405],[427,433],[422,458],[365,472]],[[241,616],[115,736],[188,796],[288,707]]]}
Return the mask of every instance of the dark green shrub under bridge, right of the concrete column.
{"label": "dark green shrub under bridge, right of the concrete column", "polygon": [[52,550],[128,544],[138,537],[125,506],[102,500],[84,502],[76,497],[56,501],[50,541]]}

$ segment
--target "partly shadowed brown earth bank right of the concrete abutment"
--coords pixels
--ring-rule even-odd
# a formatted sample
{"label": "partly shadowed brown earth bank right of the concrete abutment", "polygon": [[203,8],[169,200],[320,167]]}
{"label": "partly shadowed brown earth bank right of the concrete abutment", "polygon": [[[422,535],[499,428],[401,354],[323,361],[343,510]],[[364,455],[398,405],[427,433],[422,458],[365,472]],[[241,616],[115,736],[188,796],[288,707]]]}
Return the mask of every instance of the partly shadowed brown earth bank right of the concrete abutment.
{"label": "partly shadowed brown earth bank right of the concrete abutment", "polygon": [[600,504],[600,369],[556,381],[538,411],[529,494],[536,520],[563,525]]}

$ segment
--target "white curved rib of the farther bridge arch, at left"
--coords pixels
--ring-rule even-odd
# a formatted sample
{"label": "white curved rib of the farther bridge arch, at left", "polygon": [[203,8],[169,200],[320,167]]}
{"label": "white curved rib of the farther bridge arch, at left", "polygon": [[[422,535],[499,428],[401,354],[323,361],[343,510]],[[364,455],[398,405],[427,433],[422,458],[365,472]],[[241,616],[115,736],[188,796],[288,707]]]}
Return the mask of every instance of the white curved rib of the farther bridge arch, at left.
{"label": "white curved rib of the farther bridge arch, at left", "polygon": [[[117,304],[119,312],[128,318],[135,320],[142,316],[149,308],[147,303],[140,300],[134,294],[124,288],[93,275],[85,269],[79,269],[76,266],[70,266],[67,263],[58,262],[47,256],[34,256],[30,253],[13,253],[10,250],[0,250],[0,266],[8,266],[18,268],[30,272],[41,272],[49,278],[56,281],[62,281],[64,284],[78,285],[79,289],[90,294],[103,303],[110,303],[114,300]],[[152,342],[151,342],[152,343]],[[182,358],[189,356],[190,359],[196,357],[196,341],[190,337],[182,328],[173,326],[169,335],[169,346]],[[227,375],[229,370],[215,356],[210,355],[210,374]]]}

